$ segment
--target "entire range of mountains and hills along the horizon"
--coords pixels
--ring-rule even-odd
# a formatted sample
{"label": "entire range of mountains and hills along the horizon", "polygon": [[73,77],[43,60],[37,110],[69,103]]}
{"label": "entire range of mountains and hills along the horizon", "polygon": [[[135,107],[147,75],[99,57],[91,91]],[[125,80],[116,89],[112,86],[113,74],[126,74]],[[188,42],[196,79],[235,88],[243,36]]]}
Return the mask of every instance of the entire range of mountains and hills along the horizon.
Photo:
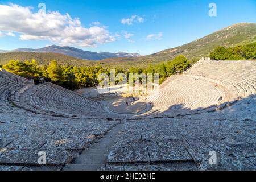
{"label": "entire range of mountains and hills along the horizon", "polygon": [[60,61],[61,64],[69,65],[94,65],[98,63],[88,60],[99,60],[102,65],[146,67],[150,63],[155,64],[160,61],[172,60],[174,57],[181,54],[186,56],[193,64],[201,59],[201,57],[209,56],[209,53],[218,46],[232,47],[252,42],[256,42],[256,23],[237,23],[193,42],[147,56],[141,56],[138,53],[96,53],[73,47],[59,47],[53,45],[40,49],[0,51],[0,64],[6,64],[11,59],[21,61],[35,59],[39,60],[40,63],[48,63],[50,60],[54,59]]}

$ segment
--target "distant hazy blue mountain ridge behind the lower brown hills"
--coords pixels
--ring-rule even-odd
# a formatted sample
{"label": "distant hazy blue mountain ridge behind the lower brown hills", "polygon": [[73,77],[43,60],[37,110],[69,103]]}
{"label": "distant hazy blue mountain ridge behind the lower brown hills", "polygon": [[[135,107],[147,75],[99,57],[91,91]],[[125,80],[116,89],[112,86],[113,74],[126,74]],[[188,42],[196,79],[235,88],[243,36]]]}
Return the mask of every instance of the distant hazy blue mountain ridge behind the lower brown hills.
{"label": "distant hazy blue mountain ridge behind the lower brown hills", "polygon": [[28,48],[19,48],[13,51],[0,51],[0,53],[7,53],[7,52],[37,52],[37,53],[61,53],[64,55],[76,57],[78,59],[84,60],[102,60],[110,57],[139,57],[139,53],[126,53],[126,52],[118,52],[118,53],[110,53],[110,52],[90,52],[90,51],[83,51],[81,49],[75,47],[68,47],[68,46],[48,46],[39,49],[28,49]]}

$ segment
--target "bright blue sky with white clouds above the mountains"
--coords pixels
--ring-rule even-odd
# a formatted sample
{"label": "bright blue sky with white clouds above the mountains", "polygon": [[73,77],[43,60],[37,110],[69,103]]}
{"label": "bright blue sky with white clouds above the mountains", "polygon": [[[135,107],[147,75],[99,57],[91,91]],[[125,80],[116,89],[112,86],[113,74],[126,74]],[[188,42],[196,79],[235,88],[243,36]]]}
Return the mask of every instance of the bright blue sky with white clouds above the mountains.
{"label": "bright blue sky with white clouds above the mountains", "polygon": [[[48,15],[36,14],[42,2]],[[217,17],[208,15],[212,2],[217,5]],[[29,12],[26,7],[30,7]],[[1,50],[57,44],[94,52],[147,55],[180,46],[235,23],[256,22],[255,0],[23,0],[0,1],[0,10],[6,12],[0,11]],[[52,13],[56,11],[59,14]],[[47,23],[42,24],[43,18]],[[27,27],[22,27],[23,24]]]}

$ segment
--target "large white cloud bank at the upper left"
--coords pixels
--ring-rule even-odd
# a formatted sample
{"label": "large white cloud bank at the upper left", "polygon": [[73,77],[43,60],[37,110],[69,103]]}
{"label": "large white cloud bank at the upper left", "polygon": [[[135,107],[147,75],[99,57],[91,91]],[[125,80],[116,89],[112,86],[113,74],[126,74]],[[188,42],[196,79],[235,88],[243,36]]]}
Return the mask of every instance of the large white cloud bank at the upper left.
{"label": "large white cloud bank at the upper left", "polygon": [[0,5],[0,31],[18,32],[20,40],[48,40],[61,46],[97,47],[115,41],[105,26],[85,28],[79,18],[58,11],[32,12],[31,7]]}

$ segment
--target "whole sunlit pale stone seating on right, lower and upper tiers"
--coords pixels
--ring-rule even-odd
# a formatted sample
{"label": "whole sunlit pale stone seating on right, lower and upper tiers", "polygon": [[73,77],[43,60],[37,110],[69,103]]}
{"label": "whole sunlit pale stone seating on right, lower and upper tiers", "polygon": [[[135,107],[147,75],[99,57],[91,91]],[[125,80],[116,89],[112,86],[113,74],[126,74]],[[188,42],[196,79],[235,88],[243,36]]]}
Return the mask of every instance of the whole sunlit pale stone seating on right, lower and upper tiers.
{"label": "whole sunlit pale stone seating on right, lower and upper tiers", "polygon": [[153,109],[144,115],[182,115],[191,113],[191,110],[196,113],[237,98],[246,98],[256,94],[255,73],[256,61],[203,58],[183,75],[171,76],[160,85],[158,97],[148,97]]}

